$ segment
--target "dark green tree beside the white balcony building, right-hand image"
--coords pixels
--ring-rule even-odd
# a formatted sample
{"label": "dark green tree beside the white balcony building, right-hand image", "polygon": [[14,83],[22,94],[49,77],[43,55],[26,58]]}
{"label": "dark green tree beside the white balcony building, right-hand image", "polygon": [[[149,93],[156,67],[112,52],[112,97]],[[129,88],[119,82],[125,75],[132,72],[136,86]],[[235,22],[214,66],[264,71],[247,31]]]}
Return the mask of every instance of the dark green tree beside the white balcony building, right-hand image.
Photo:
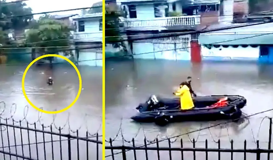
{"label": "dark green tree beside the white balcony building, right-hand image", "polygon": [[121,48],[127,54],[126,45],[121,36],[122,24],[120,17],[123,12],[117,5],[107,5],[105,7],[105,43],[112,44],[115,48]]}

